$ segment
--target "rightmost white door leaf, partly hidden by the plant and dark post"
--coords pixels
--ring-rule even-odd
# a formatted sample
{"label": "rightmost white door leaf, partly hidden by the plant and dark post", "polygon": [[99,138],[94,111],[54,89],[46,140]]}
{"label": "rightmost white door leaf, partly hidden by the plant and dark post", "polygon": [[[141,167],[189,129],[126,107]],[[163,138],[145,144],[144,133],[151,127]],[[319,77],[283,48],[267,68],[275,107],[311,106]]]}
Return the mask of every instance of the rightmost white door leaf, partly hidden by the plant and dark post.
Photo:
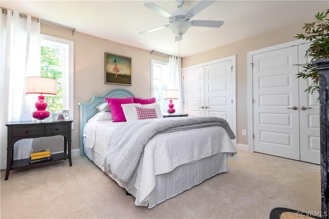
{"label": "rightmost white door leaf, partly hidden by the plant and dark post", "polygon": [[[310,44],[298,46],[299,63],[309,63],[305,52]],[[301,67],[299,71],[302,71]],[[319,93],[304,92],[312,84],[310,79],[299,78],[300,160],[320,164],[320,107]]]}

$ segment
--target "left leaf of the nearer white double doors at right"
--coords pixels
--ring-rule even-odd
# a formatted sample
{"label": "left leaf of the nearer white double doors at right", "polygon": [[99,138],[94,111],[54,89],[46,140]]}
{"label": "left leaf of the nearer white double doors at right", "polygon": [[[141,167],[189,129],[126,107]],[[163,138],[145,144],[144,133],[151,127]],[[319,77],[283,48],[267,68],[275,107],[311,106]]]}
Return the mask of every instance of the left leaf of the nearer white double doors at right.
{"label": "left leaf of the nearer white double doors at right", "polygon": [[254,151],[299,160],[298,48],[252,56]]}

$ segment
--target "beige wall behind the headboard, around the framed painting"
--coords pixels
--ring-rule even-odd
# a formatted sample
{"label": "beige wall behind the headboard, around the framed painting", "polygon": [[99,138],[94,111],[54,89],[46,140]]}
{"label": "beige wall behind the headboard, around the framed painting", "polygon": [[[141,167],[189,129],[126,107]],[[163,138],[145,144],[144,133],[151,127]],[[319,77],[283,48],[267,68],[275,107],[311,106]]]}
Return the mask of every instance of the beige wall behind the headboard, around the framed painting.
{"label": "beige wall behind the headboard, around the framed painting", "polygon": [[[41,33],[74,41],[74,130],[72,149],[80,147],[80,107],[78,103],[90,102],[92,95],[102,95],[107,90],[127,89],[136,96],[151,97],[151,59],[168,62],[168,57],[147,50],[119,44],[106,39],[72,32],[46,24]],[[132,57],[132,86],[104,83],[104,53]]]}

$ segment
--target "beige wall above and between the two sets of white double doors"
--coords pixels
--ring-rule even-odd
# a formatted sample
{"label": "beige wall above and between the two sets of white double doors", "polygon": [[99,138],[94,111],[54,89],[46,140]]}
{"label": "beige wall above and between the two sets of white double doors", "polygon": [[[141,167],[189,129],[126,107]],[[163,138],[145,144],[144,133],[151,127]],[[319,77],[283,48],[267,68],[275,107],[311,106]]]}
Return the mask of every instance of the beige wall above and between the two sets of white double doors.
{"label": "beige wall above and between the two sets of white double doors", "polygon": [[277,31],[250,37],[239,42],[218,47],[193,56],[182,58],[181,67],[188,67],[214,59],[236,54],[236,137],[237,144],[248,145],[248,137],[242,136],[242,129],[248,130],[247,112],[247,52],[268,46],[295,41],[303,24],[297,24]]}

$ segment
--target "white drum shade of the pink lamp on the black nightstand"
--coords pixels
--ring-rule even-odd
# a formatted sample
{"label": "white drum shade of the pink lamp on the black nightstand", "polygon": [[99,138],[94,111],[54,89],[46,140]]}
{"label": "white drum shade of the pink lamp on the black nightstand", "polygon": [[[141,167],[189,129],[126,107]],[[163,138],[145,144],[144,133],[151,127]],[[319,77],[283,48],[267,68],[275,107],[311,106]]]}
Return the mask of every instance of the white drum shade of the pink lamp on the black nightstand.
{"label": "white drum shade of the pink lamp on the black nightstand", "polygon": [[57,80],[48,77],[26,77],[25,93],[57,95]]}

